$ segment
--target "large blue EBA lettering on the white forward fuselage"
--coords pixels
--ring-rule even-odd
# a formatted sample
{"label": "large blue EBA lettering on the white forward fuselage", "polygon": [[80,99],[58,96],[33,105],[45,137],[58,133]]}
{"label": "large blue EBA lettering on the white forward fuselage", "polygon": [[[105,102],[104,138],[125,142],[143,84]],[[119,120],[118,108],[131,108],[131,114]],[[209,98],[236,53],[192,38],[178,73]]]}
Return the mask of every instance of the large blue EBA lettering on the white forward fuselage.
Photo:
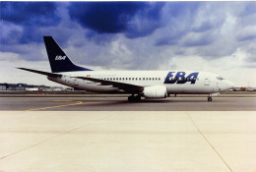
{"label": "large blue EBA lettering on the white forward fuselage", "polygon": [[185,84],[187,82],[190,82],[192,85],[196,83],[198,73],[192,73],[186,76],[185,72],[177,72],[177,74],[174,77],[175,72],[169,72],[166,76],[166,79],[164,81],[164,84]]}

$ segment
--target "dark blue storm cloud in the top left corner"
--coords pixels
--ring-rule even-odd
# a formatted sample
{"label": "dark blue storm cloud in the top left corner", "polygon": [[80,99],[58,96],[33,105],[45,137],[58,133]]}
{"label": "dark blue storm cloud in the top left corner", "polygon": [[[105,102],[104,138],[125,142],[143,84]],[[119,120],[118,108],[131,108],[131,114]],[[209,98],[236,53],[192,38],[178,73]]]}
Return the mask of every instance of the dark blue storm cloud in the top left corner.
{"label": "dark blue storm cloud in the top left corner", "polygon": [[52,26],[60,19],[53,2],[1,2],[1,20],[26,26]]}

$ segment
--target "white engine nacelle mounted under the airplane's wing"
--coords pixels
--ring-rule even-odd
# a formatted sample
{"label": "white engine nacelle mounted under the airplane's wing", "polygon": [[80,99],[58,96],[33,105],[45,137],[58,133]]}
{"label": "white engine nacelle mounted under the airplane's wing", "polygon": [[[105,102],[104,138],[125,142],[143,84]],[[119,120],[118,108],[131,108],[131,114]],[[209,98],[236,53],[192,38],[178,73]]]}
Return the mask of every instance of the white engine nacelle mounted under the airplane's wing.
{"label": "white engine nacelle mounted under the airplane's wing", "polygon": [[166,86],[147,86],[143,93],[146,98],[166,98],[167,88]]}

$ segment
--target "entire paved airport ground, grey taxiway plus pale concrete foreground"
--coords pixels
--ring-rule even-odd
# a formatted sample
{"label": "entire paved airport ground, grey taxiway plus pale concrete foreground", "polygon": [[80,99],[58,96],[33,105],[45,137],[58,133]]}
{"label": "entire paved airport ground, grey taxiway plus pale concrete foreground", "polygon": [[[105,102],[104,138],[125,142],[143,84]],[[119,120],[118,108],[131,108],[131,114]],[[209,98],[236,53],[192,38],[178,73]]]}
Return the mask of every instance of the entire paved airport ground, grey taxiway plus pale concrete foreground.
{"label": "entire paved airport ground, grey taxiway plus pale concrete foreground", "polygon": [[0,171],[255,172],[256,97],[0,97]]}

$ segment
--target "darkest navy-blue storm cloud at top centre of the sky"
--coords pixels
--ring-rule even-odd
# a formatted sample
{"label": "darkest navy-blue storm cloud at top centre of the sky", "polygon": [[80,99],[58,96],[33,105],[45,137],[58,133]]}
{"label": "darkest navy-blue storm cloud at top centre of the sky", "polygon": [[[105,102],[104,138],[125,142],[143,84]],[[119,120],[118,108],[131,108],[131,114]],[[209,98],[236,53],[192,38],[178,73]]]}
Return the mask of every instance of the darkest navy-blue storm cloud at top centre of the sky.
{"label": "darkest navy-blue storm cloud at top centre of the sky", "polygon": [[127,23],[145,2],[77,2],[69,7],[70,18],[98,33],[116,33],[127,29]]}

